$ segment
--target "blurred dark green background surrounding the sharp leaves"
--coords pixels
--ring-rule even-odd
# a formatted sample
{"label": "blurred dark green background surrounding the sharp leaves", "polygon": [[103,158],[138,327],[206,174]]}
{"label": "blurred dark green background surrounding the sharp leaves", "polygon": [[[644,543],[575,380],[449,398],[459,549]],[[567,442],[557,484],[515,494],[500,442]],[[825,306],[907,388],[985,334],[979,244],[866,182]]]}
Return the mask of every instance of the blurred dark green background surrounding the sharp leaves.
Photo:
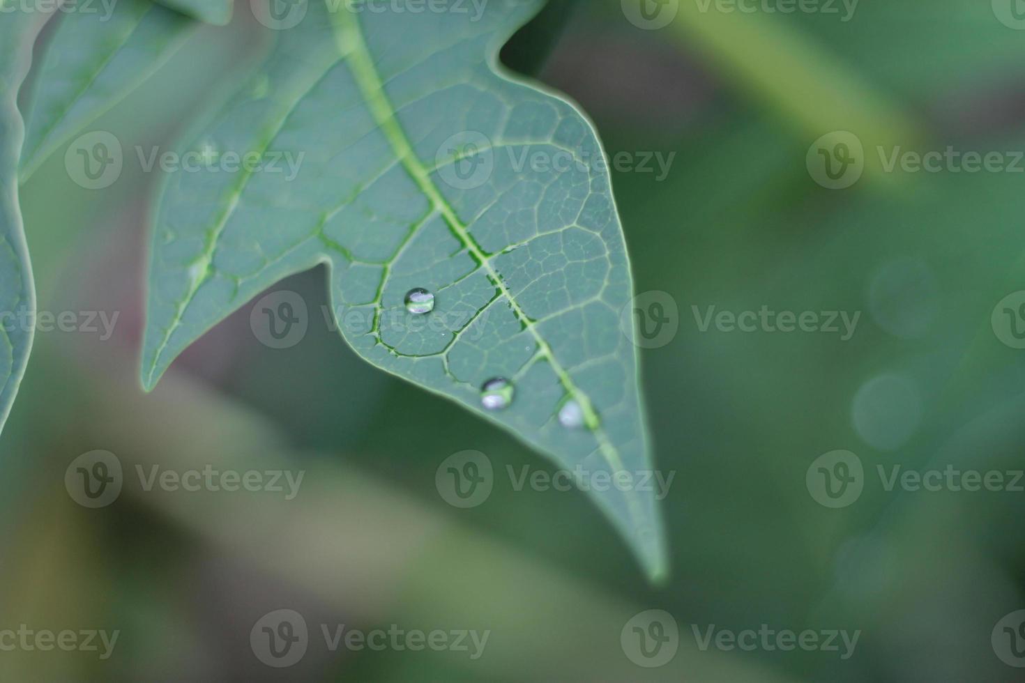
{"label": "blurred dark green background surrounding the sharp leaves", "polygon": [[[321,270],[276,288],[313,311],[298,346],[261,345],[247,307],[144,395],[159,177],[126,165],[113,187],[88,191],[55,155],[23,190],[40,310],[119,317],[107,341],[37,337],[0,438],[0,628],[120,636],[107,659],[0,652],[0,679],[1022,680],[991,636],[1025,607],[1025,493],[887,490],[876,473],[1025,468],[1025,351],[991,321],[1025,290],[1025,173],[888,173],[875,152],[1025,151],[1025,27],[1001,22],[999,4],[865,0],[844,22],[838,3],[838,14],[784,14],[681,0],[672,23],[645,30],[618,0],[560,3],[539,19],[557,32],[529,27],[507,49],[509,63],[581,103],[610,155],[675,153],[664,179],[614,173],[638,291],[667,293],[679,309],[671,342],[643,350],[658,468],[675,472],[664,586],[646,582],[581,493],[505,481],[478,508],[446,504],[435,473],[457,452],[487,454],[500,480],[506,466],[552,467],[363,364],[321,324]],[[90,130],[116,131],[126,148],[170,144],[256,56],[247,3],[237,14]],[[831,131],[864,145],[864,175],[845,189],[820,186],[806,163]],[[694,307],[709,306],[861,317],[849,341],[702,332]],[[113,505],[86,509],[65,472],[93,450],[126,472],[305,475],[291,501],[146,492],[128,476]],[[864,489],[832,509],[806,475],[837,450],[860,459]],[[250,646],[253,625],[278,609],[311,630],[305,656],[280,670]],[[658,668],[621,644],[648,609],[679,625],[679,651]],[[320,626],[341,624],[491,635],[476,660],[330,651]],[[693,629],[712,625],[860,639],[849,658],[702,649]]]}

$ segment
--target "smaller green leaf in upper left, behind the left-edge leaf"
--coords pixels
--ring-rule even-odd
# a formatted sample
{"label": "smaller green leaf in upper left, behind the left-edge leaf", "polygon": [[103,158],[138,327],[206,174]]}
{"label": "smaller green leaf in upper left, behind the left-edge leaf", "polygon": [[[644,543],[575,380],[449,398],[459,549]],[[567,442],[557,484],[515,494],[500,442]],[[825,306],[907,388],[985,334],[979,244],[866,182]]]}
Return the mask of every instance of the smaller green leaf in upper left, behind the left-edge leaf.
{"label": "smaller green leaf in upper left, behind the left-edge leaf", "polygon": [[146,81],[198,26],[151,0],[118,0],[110,15],[74,11],[56,20],[26,117],[23,182],[54,150]]}

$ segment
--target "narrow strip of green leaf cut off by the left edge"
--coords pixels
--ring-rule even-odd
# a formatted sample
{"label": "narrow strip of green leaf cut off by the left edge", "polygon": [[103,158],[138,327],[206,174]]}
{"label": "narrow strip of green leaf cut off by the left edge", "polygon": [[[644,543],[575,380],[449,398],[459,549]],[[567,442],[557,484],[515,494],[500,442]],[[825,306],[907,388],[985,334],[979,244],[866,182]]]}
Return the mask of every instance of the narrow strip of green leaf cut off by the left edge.
{"label": "narrow strip of green leaf cut off by the left edge", "polygon": [[[4,5],[8,5],[5,7]],[[32,59],[32,46],[47,15],[0,0],[0,427],[7,421],[25,375],[35,331],[36,292],[17,203],[17,156],[25,127],[17,90]],[[8,11],[10,10],[10,11]]]}

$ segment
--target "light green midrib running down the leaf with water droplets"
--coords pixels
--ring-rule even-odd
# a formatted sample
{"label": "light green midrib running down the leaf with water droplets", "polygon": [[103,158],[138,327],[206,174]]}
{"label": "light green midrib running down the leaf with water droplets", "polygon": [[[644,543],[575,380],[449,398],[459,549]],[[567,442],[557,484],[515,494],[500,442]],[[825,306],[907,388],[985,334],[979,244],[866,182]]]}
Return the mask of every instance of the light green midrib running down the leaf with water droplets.
{"label": "light green midrib running down the leaf with water droplets", "polygon": [[[537,330],[537,326],[524,313],[523,309],[520,308],[520,304],[505,287],[505,283],[492,266],[487,254],[484,253],[484,251],[477,245],[473,237],[470,237],[466,225],[456,214],[452,205],[449,204],[442,193],[438,189],[437,185],[435,185],[426,168],[413,151],[413,146],[410,143],[409,138],[396,118],[395,108],[384,92],[383,81],[377,73],[377,68],[374,65],[373,57],[367,47],[359,18],[353,12],[344,9],[340,11],[334,10],[334,17],[335,39],[340,56],[346,61],[353,72],[357,85],[360,88],[360,91],[363,94],[375,122],[387,137],[388,143],[392,145],[395,154],[402,162],[403,167],[419,186],[420,190],[427,197],[436,210],[445,218],[446,222],[455,232],[456,237],[458,237],[458,239],[462,242],[466,250],[473,254],[477,261],[486,269],[488,278],[499,289],[502,296],[504,296],[509,302],[509,306],[512,308],[514,313],[523,323],[525,328],[530,331],[531,336],[537,342],[540,354],[543,355],[551,366],[552,372],[556,373],[556,376],[559,378],[563,388],[566,389],[567,393],[580,404],[587,427],[594,434],[594,438],[598,440],[602,455],[609,463],[609,466],[615,472],[624,471],[625,468],[623,467],[622,458],[619,456],[619,451],[615,445],[613,445],[608,434],[602,428],[601,419],[596,413],[590,398],[576,386],[569,373],[556,358],[548,342],[541,336],[540,332]],[[636,492],[630,493],[636,494]],[[629,501],[628,505],[630,508],[630,514],[634,517],[634,520],[639,523],[643,522],[644,515],[637,507],[638,502],[636,497],[627,496],[627,501]]]}

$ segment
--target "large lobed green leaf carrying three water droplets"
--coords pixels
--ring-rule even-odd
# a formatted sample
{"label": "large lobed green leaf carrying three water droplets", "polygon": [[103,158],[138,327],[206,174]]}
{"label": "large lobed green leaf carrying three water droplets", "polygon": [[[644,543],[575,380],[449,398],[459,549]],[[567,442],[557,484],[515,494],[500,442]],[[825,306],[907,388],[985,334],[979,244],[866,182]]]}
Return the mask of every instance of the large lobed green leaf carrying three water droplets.
{"label": "large lobed green leaf carrying three water droplets", "polygon": [[[326,263],[341,333],[373,365],[565,468],[650,471],[632,326],[620,330],[632,283],[600,143],[570,103],[496,65],[540,4],[493,0],[474,17],[455,11],[461,2],[422,13],[312,2],[279,31],[262,69],[182,148],[301,163],[294,178],[170,175],[155,217],[145,387],[252,297]],[[526,161],[567,155],[591,163]],[[436,295],[425,316],[406,311],[416,288]],[[482,408],[492,378],[514,383],[504,411]],[[560,424],[567,401],[581,428]],[[638,488],[594,500],[661,575],[655,496]]]}

